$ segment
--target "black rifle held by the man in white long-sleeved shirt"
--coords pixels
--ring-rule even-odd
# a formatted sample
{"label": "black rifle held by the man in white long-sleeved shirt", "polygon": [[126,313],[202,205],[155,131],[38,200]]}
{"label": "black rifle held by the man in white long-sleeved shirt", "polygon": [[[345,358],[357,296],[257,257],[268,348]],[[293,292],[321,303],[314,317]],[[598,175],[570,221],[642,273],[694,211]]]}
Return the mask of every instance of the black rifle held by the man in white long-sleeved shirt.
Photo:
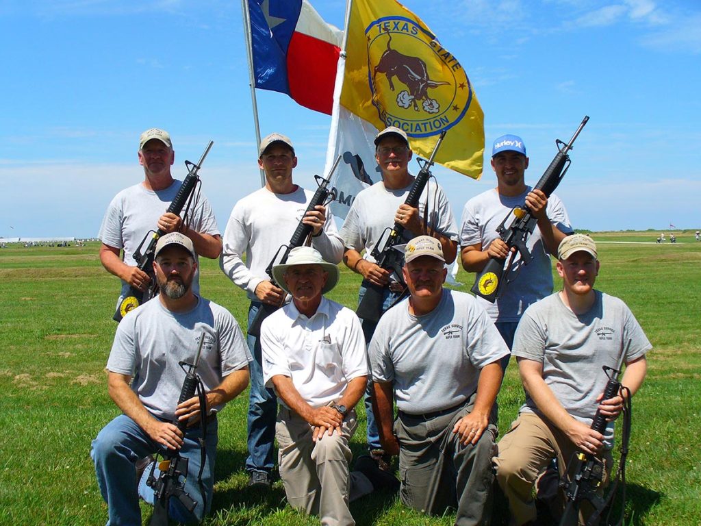
{"label": "black rifle held by the man in white long-sleeved shirt", "polygon": [[[270,278],[271,283],[275,285],[276,287],[278,286],[277,283],[275,283],[275,279],[273,278],[273,267],[276,264],[285,264],[287,262],[287,257],[290,256],[290,250],[293,248],[301,247],[301,245],[304,245],[306,243],[307,238],[310,236],[313,227],[309,224],[304,224],[302,220],[306,216],[306,213],[309,212],[310,210],[314,210],[317,205],[325,205],[328,201],[334,201],[336,198],[336,190],[332,189],[329,190],[329,181],[331,181],[331,176],[334,173],[334,170],[336,170],[336,166],[339,165],[339,161],[341,161],[341,156],[336,157],[336,161],[334,162],[334,166],[331,167],[331,172],[329,173],[329,176],[327,179],[324,179],[324,177],[321,177],[320,175],[315,175],[314,178],[316,180],[316,184],[319,185],[319,187],[316,189],[314,195],[311,198],[311,201],[309,201],[309,205],[307,206],[307,209],[304,211],[304,214],[302,215],[302,219],[299,220],[299,224],[297,224],[297,228],[294,229],[294,234],[292,234],[292,238],[290,238],[290,243],[287,243],[287,245],[282,245],[280,248],[278,248],[278,251],[275,252],[275,255],[273,256],[273,259],[271,259],[270,264],[268,264],[268,267],[266,267],[265,271],[266,274],[268,274],[268,277]],[[329,198],[329,194],[331,194],[331,198]],[[330,218],[327,217],[327,221]],[[278,259],[278,256],[280,255],[280,251],[283,251],[283,256]],[[259,337],[261,335],[261,323],[263,323],[263,320],[270,316],[273,312],[277,311],[280,309],[282,305],[272,305],[269,303],[263,303],[261,304],[260,308],[258,309],[258,312],[256,313],[255,318],[253,318],[253,321],[251,322],[251,326],[248,328],[248,334],[254,337]]]}

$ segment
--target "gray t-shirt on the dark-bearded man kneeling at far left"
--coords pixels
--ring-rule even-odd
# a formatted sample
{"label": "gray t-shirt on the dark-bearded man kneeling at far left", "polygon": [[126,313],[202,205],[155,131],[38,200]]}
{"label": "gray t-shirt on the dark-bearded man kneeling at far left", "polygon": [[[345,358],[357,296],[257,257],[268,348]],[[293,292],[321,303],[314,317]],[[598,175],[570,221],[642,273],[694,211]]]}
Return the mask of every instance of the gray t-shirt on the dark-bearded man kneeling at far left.
{"label": "gray t-shirt on the dark-bearded man kneeling at far left", "polygon": [[178,363],[193,363],[203,332],[205,343],[196,372],[206,391],[252,360],[231,313],[208,299],[198,299],[191,311],[174,313],[155,297],[130,311],[117,326],[107,370],[131,376],[132,391],[156,417],[175,417],[185,379]]}

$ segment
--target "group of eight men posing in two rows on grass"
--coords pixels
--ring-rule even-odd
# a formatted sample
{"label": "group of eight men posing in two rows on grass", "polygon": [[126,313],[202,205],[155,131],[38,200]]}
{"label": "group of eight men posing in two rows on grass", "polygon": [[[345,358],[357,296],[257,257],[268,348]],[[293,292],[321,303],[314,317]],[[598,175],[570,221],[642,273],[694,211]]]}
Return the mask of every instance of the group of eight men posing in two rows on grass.
{"label": "group of eight men posing in two rows on grass", "polygon": [[[594,242],[573,234],[556,196],[526,186],[523,141],[494,142],[497,187],[468,201],[460,229],[433,181],[416,207],[405,203],[415,180],[406,133],[386,128],[374,142],[383,178],[356,196],[339,231],[325,205],[306,211],[312,193],[292,181],[292,141],[268,135],[258,152],[266,184],[236,203],[221,238],[201,192],[186,224],[163,213],[181,184],[170,174],[172,141],[156,128],[142,134],[145,179],[114,198],[100,231],[102,264],[122,279],[123,293],[149,286],[131,257],[154,225],[165,233],[154,259],[158,296],[123,318],[107,363],[109,394],[123,414],[97,435],[91,457],[108,524],[140,524],[139,497],[156,499],[154,455],[176,452],[189,459],[184,491],[196,505],[170,499],[170,516],[202,520],[212,497],[217,413],[249,382],[250,487],[271,485],[276,439],[287,500],[322,525],[355,524],[349,502],[391,485],[397,454],[402,502],[430,514],[455,508],[456,525],[489,524],[495,473],[512,522],[522,525],[536,519],[533,487],[552,459],[560,476],[576,451],[610,469],[613,428],[598,433],[590,425],[597,410],[613,422],[624,400],[601,400],[601,366],[625,364],[622,384],[632,394],[651,345],[625,304],[594,290]],[[528,243],[533,261],[496,304],[444,288],[458,243],[471,272],[508,257],[496,227],[524,203],[538,220]],[[268,276],[300,221],[311,229],[308,243]],[[404,229],[404,264],[383,269],[371,252],[393,224]],[[551,254],[563,279],[554,294]],[[224,274],[247,292],[248,328],[262,306],[279,307],[259,337],[247,333],[244,344],[233,316],[199,295],[198,255],[219,257]],[[379,322],[360,321],[325,297],[341,260],[362,275],[359,301],[369,285],[382,287]],[[178,400],[179,363],[191,363],[198,346],[204,396]],[[497,443],[496,397],[511,354],[526,402]],[[369,457],[351,471],[354,408],[364,396]]]}

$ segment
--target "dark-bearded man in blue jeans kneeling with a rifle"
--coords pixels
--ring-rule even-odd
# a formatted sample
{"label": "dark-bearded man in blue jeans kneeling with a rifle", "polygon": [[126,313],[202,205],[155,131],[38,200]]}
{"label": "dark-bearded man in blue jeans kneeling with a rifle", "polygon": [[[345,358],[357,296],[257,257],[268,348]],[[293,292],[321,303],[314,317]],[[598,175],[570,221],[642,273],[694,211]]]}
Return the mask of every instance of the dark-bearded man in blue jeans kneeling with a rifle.
{"label": "dark-bearded man in blue jeans kneeling with a rifle", "polygon": [[[190,238],[178,232],[162,236],[154,261],[158,297],[130,311],[117,327],[108,386],[123,414],[104,426],[90,450],[110,526],[140,525],[139,497],[154,504],[154,490],[146,484],[151,467],[139,477],[137,464],[144,469],[156,453],[170,457],[179,451],[188,461],[183,490],[196,504],[189,511],[170,499],[173,520],[199,522],[212,502],[217,412],[246,388],[252,358],[231,313],[192,292],[196,269]],[[193,363],[198,348],[196,373],[207,405],[203,424],[197,396],[178,403],[185,379],[179,363]],[[187,422],[184,433],[172,423],[176,419]]]}

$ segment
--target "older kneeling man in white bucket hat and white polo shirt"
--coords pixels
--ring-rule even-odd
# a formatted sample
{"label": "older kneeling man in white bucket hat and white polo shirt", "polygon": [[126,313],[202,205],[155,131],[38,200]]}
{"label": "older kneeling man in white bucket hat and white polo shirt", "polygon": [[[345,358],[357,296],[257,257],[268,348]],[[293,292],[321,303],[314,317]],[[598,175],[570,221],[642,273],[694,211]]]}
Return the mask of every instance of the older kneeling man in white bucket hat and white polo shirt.
{"label": "older kneeling man in white bucket hat and white polo shirt", "polygon": [[285,494],[292,507],[320,515],[322,525],[354,525],[348,443],[367,384],[360,320],[323,297],[339,269],[311,247],[293,248],[273,277],[292,295],[266,318],[260,337],[263,379],[280,400],[275,436]]}

